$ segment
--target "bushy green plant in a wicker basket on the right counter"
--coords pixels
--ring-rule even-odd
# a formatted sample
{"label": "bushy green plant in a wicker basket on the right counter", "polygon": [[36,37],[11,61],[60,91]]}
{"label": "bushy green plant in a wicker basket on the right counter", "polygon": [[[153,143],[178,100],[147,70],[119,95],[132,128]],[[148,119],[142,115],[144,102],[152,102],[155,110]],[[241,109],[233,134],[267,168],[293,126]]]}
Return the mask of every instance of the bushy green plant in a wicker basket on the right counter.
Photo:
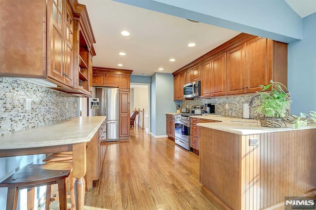
{"label": "bushy green plant in a wicker basket on the right counter", "polygon": [[[252,98],[249,106],[254,103],[254,113],[264,127],[281,127],[291,101],[286,94],[286,87],[270,81],[268,85],[260,85],[261,91]],[[285,91],[284,91],[285,90]]]}

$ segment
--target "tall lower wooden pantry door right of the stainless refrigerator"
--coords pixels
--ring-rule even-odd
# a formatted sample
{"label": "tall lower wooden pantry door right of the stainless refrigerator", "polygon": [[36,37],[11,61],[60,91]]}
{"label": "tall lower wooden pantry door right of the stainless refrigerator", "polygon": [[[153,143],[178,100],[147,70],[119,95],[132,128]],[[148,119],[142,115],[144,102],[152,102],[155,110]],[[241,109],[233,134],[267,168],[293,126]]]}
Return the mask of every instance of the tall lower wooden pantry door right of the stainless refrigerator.
{"label": "tall lower wooden pantry door right of the stainless refrigerator", "polygon": [[129,138],[129,91],[119,91],[119,138]]}

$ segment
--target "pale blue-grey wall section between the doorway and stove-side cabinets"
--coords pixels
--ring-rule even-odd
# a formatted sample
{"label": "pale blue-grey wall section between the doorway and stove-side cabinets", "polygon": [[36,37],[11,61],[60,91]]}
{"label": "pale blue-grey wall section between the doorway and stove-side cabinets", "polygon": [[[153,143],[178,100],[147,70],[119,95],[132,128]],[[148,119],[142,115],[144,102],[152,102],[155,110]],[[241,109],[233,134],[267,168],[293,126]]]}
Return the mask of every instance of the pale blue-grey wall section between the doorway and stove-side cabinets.
{"label": "pale blue-grey wall section between the doorway and stove-side cabinets", "polygon": [[151,133],[156,136],[166,135],[165,113],[176,112],[176,105],[173,102],[173,75],[155,73],[151,81]]}

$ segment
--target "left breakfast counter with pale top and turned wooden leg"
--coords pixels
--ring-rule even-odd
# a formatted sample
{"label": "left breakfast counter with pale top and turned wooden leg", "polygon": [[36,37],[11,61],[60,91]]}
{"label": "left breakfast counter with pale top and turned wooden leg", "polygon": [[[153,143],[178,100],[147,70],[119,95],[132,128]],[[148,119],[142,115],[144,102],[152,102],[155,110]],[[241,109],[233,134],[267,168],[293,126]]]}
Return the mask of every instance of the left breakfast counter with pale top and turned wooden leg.
{"label": "left breakfast counter with pale top and turned wooden leg", "polygon": [[[83,210],[86,145],[98,135],[105,116],[75,117],[0,137],[0,157],[73,151],[77,210]],[[92,164],[92,163],[90,163]]]}

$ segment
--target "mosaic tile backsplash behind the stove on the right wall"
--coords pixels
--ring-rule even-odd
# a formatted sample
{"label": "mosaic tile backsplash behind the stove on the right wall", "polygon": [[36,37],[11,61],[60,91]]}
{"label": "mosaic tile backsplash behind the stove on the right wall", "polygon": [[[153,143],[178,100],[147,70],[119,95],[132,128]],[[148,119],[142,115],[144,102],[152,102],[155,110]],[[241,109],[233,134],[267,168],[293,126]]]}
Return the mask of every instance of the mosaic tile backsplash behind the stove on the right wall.
{"label": "mosaic tile backsplash behind the stove on the right wall", "polygon": [[[205,103],[215,104],[215,114],[221,114],[225,117],[237,117],[242,118],[242,106],[243,104],[249,104],[254,94],[240,95],[240,96],[225,96],[216,97],[211,99],[194,98],[194,100],[181,101],[181,107],[190,108],[193,105],[204,105]],[[228,109],[226,109],[228,104]],[[256,118],[252,108],[249,108],[250,118]]]}

